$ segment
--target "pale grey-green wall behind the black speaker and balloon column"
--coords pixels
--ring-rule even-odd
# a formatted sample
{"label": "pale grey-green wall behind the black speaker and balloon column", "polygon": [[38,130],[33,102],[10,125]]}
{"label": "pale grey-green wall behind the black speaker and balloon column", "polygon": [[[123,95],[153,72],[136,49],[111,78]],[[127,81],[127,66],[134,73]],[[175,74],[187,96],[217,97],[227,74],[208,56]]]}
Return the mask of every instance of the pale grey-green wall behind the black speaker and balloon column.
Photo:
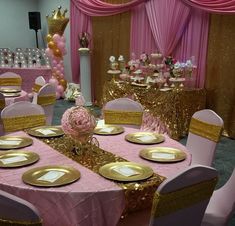
{"label": "pale grey-green wall behind the black speaker and balloon column", "polygon": [[[61,5],[62,10],[68,9],[70,0],[0,0],[0,48],[15,49],[36,47],[35,31],[29,29],[28,12],[41,13],[41,27],[38,31],[39,48],[46,47],[47,35],[46,15]],[[67,55],[64,56],[65,78],[72,81],[70,62],[70,24],[65,29]]]}

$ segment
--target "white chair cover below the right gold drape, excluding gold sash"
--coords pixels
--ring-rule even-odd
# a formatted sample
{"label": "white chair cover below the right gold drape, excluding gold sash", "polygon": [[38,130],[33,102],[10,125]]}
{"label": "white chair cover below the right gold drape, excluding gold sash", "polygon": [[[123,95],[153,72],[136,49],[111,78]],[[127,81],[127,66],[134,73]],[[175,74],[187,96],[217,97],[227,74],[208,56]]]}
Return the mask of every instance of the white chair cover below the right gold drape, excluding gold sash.
{"label": "white chair cover below the right gold drape, excluding gold sash", "polygon": [[[208,123],[212,126],[218,126],[222,129],[223,120],[214,111],[205,109],[197,111],[192,118]],[[187,138],[186,147],[192,153],[192,164],[201,164],[211,166],[214,160],[217,141],[208,139],[204,135],[196,135],[190,131],[192,121],[189,126],[189,134]],[[212,132],[211,129],[200,128],[202,133]]]}

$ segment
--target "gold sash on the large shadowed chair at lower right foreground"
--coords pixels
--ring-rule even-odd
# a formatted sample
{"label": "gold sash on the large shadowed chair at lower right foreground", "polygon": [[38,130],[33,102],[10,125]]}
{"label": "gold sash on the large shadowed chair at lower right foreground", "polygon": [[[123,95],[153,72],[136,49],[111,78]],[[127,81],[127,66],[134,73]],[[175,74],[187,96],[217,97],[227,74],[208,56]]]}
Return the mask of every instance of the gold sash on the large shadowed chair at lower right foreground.
{"label": "gold sash on the large shadowed chair at lower right foreground", "polygon": [[153,198],[151,216],[153,218],[162,217],[209,199],[217,181],[218,178],[215,177],[174,192],[166,194],[156,192]]}

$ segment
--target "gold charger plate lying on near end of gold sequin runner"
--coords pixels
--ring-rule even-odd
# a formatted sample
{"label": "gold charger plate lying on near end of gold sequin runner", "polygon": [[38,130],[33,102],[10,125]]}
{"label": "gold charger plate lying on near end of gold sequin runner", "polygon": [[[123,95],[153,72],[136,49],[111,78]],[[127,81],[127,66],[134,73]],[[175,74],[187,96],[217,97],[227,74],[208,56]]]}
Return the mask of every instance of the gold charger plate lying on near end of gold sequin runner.
{"label": "gold charger plate lying on near end of gold sequin runner", "polygon": [[[123,168],[125,167],[125,168]],[[123,175],[116,170],[125,170],[126,167],[133,172],[134,175]],[[99,169],[99,173],[108,179],[116,181],[139,181],[144,180],[153,175],[153,170],[145,165],[134,163],[134,162],[113,162],[106,164]]]}

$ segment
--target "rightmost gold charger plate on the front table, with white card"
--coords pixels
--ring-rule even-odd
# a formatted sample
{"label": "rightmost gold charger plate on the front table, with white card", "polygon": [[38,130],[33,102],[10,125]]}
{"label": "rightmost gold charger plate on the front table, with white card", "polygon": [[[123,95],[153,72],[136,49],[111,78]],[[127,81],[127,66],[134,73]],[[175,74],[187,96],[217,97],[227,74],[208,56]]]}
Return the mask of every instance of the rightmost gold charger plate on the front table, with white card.
{"label": "rightmost gold charger plate on the front table, with white card", "polygon": [[186,154],[176,148],[151,147],[140,151],[140,156],[155,162],[179,162],[186,158]]}

